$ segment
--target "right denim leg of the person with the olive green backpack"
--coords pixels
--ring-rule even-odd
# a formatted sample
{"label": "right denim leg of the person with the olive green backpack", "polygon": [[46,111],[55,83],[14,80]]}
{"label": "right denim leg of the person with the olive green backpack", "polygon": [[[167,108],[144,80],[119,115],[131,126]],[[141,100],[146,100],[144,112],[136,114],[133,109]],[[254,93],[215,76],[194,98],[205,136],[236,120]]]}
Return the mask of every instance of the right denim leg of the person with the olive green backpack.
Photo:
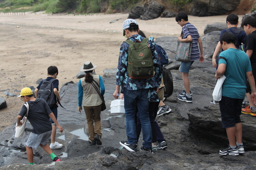
{"label": "right denim leg of the person with the olive green backpack", "polygon": [[152,147],[152,130],[148,113],[148,91],[149,89],[141,89],[138,91],[137,106],[139,110],[139,118],[142,126],[143,146],[145,149]]}

